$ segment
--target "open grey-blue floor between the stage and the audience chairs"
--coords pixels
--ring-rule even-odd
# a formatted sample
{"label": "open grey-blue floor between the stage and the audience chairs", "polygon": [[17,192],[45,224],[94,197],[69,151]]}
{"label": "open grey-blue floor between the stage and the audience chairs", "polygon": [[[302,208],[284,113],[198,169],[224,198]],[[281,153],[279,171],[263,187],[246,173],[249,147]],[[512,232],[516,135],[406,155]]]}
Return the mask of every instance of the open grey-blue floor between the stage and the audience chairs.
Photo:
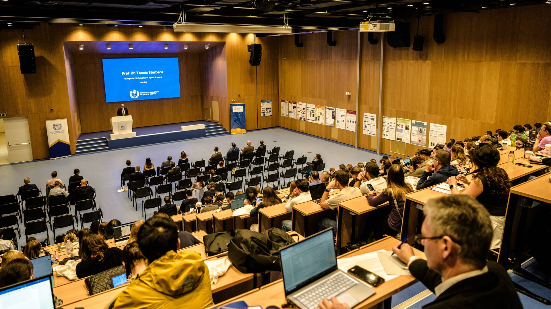
{"label": "open grey-blue floor between the stage and the audience chairs", "polygon": [[[311,161],[311,158],[316,153],[320,153],[323,161],[326,162],[327,170],[330,167],[338,168],[338,164],[342,163],[356,165],[358,162],[369,162],[373,158],[379,161],[381,158],[381,156],[371,151],[355,149],[352,146],[295,131],[273,128],[255,130],[246,134],[214,136],[121,150],[80,154],[56,160],[0,165],[0,174],[3,179],[0,195],[17,193],[18,187],[23,185],[23,178],[25,177],[30,177],[31,183],[35,183],[44,191],[45,183],[51,178],[50,173],[52,170],[56,170],[58,178],[67,182],[69,176],[73,175],[73,169],[78,168],[80,169],[80,175],[87,179],[90,185],[96,189],[96,202],[104,213],[105,221],[118,219],[122,223],[133,222],[143,219],[141,208],[138,207],[138,211],[136,211],[135,208],[132,208],[132,202],[128,199],[127,193],[117,192],[121,187],[121,170],[126,166],[125,161],[127,159],[132,161],[133,166],[140,165],[143,167],[145,158],[150,157],[153,164],[157,166],[165,161],[169,155],[172,156],[173,161],[177,161],[180,157],[180,152],[185,151],[190,158],[190,162],[193,162],[202,158],[210,158],[210,155],[214,152],[214,146],[218,146],[220,151],[225,154],[231,146],[231,142],[235,142],[239,148],[242,148],[246,145],[247,140],[251,140],[252,145],[257,147],[258,141],[261,139],[264,140],[264,144],[267,145],[269,150],[274,146],[279,146],[281,153],[287,150],[295,150],[295,158],[304,154]],[[141,201],[139,202],[141,203]],[[153,211],[154,209],[148,210],[148,217],[152,216]],[[25,244],[23,224],[20,224],[20,229],[22,240],[19,241],[19,246],[23,246]],[[56,234],[64,234],[66,230],[64,228],[58,229],[56,230]],[[39,240],[44,240],[46,233],[33,236]],[[53,242],[51,231],[50,241]]]}

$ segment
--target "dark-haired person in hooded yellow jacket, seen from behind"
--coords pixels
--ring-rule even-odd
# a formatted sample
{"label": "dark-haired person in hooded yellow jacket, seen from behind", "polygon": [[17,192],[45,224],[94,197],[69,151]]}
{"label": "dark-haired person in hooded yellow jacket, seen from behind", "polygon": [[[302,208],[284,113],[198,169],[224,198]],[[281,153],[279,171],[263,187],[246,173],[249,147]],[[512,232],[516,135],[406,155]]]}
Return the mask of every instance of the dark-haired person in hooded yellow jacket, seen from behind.
{"label": "dark-haired person in hooded yellow jacket, seen from behind", "polygon": [[138,231],[138,246],[149,265],[116,297],[114,308],[200,309],[213,305],[208,268],[199,253],[176,252],[180,239],[174,222],[149,218]]}

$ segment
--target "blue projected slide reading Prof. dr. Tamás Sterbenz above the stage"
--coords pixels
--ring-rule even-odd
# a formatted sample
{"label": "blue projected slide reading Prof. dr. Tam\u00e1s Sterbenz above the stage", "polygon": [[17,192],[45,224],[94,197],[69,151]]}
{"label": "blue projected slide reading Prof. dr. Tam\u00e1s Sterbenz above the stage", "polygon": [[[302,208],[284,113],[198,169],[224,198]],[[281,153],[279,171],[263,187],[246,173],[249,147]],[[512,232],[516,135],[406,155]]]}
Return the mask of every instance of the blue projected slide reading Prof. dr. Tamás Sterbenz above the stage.
{"label": "blue projected slide reading Prof. dr. Tam\u00e1s Sterbenz above the stage", "polygon": [[107,103],[180,97],[177,57],[102,60]]}

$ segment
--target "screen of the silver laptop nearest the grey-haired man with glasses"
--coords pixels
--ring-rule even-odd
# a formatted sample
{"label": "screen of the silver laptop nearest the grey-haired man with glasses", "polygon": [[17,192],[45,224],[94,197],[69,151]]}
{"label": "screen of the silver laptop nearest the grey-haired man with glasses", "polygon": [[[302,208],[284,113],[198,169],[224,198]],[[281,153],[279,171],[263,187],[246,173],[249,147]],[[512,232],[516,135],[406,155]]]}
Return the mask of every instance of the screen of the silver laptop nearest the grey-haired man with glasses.
{"label": "screen of the silver laptop nearest the grey-haired man with glasses", "polygon": [[279,255],[285,295],[337,269],[332,229],[284,247]]}

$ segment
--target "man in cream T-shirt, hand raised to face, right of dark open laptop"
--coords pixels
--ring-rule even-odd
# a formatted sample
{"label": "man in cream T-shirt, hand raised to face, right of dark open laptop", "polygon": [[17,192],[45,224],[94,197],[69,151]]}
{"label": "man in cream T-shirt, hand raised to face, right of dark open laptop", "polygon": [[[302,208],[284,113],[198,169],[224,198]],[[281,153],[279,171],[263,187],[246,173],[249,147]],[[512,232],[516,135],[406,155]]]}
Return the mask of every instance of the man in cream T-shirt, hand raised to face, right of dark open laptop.
{"label": "man in cream T-shirt, hand raised to face, right of dark open laptop", "polygon": [[[329,197],[331,189],[339,189],[337,194]],[[331,181],[323,192],[320,206],[323,209],[336,209],[340,202],[350,200],[350,198],[361,196],[361,192],[357,187],[348,186],[348,173],[343,170],[335,172],[335,180]],[[333,236],[337,235],[337,220],[322,218],[317,225],[318,229],[325,230],[333,228]]]}

